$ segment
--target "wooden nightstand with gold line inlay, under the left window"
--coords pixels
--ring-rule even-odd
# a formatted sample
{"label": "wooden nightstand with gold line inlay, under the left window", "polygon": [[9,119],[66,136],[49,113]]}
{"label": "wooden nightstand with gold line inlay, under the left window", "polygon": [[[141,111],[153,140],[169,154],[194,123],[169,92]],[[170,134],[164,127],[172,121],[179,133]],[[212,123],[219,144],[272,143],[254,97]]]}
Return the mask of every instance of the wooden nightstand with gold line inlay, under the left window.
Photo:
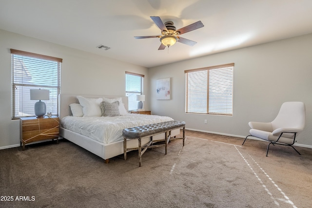
{"label": "wooden nightstand with gold line inlay, under the left window", "polygon": [[23,145],[23,150],[25,150],[25,144],[46,139],[57,139],[57,144],[59,144],[59,117],[20,118],[20,145]]}

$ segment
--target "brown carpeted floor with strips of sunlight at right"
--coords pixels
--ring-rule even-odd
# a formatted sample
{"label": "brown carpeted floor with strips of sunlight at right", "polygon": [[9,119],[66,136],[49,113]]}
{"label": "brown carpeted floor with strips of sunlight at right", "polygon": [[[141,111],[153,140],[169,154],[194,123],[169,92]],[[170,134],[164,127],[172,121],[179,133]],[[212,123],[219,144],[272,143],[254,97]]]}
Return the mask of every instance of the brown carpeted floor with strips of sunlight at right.
{"label": "brown carpeted floor with strips of sunlight at right", "polygon": [[264,141],[186,136],[167,155],[146,151],[142,167],[137,151],[104,164],[65,139],[0,150],[0,207],[312,207],[312,149],[275,145],[266,157]]}

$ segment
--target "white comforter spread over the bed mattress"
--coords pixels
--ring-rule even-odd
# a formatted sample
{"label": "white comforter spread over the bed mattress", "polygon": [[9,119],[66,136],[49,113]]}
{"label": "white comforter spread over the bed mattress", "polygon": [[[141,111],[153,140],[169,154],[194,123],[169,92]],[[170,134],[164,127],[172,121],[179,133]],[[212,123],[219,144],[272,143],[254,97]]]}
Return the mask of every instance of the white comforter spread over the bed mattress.
{"label": "white comforter spread over the bed mattress", "polygon": [[108,144],[123,140],[123,129],[173,120],[168,116],[127,113],[120,116],[106,117],[65,116],[60,123],[65,129]]}

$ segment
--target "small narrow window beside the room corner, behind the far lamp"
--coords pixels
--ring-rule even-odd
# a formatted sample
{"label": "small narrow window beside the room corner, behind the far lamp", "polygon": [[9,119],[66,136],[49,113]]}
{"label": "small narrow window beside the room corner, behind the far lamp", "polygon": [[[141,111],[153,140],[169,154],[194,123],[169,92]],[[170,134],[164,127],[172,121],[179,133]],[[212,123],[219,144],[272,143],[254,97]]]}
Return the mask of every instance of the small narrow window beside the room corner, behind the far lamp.
{"label": "small narrow window beside the room corner, behind the far lamp", "polygon": [[126,96],[128,96],[129,111],[137,109],[137,95],[143,95],[143,78],[144,75],[126,72]]}

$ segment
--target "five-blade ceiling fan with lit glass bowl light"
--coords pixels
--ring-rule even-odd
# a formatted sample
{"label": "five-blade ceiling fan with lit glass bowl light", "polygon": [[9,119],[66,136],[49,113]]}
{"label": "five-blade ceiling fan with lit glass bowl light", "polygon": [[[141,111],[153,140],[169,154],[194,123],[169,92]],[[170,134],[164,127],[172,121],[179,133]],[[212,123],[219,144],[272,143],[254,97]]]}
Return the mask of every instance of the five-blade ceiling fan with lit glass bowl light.
{"label": "five-blade ceiling fan with lit glass bowl light", "polygon": [[201,21],[197,21],[193,24],[190,24],[188,26],[185,26],[176,30],[176,26],[174,25],[172,21],[167,21],[163,23],[159,17],[154,17],[154,16],[151,16],[151,19],[155,22],[155,24],[161,30],[161,36],[137,36],[135,38],[136,39],[160,38],[161,45],[159,46],[158,50],[164,50],[166,46],[168,46],[169,48],[170,46],[174,45],[176,42],[184,43],[190,46],[195,45],[197,42],[179,37],[179,35],[196,30],[204,26]]}

